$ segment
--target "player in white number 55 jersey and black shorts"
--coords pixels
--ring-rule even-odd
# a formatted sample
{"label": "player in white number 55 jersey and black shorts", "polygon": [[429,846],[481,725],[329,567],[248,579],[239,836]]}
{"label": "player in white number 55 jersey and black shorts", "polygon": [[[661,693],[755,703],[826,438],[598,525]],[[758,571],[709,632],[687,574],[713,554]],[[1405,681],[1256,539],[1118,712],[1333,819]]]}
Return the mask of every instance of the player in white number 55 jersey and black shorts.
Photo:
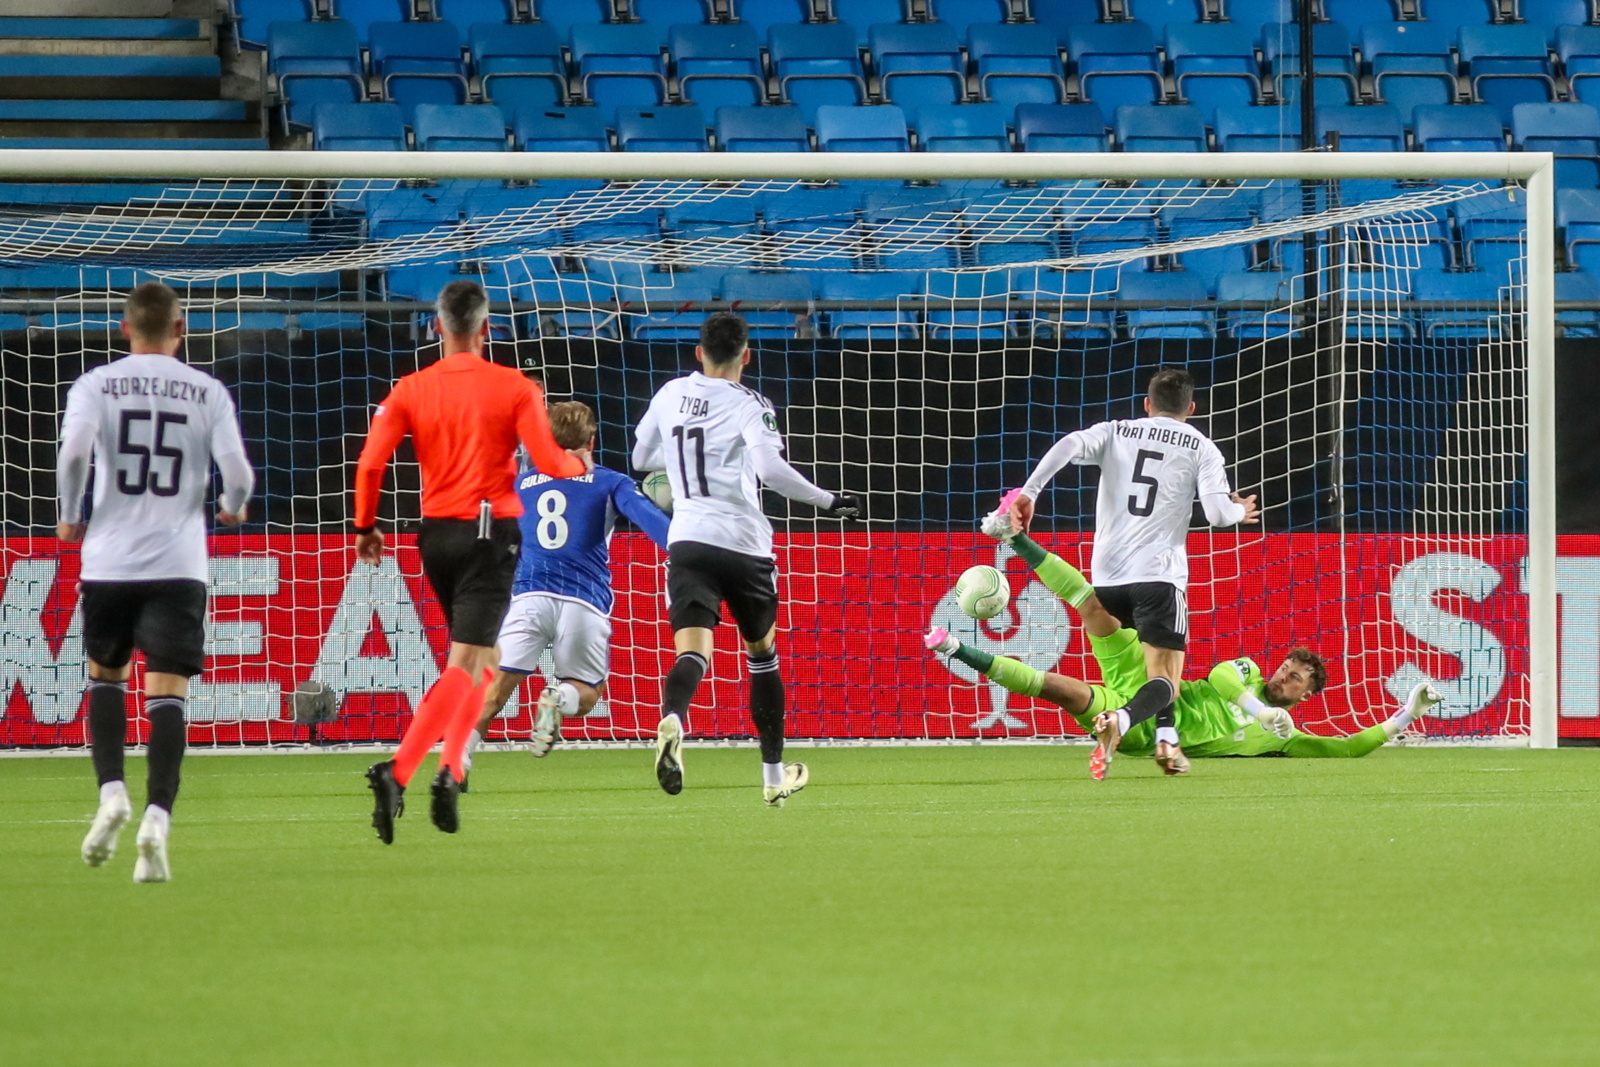
{"label": "player in white number 55 jersey and black shorts", "polygon": [[[222,472],[218,522],[245,522],[254,475],[222,382],[176,358],[184,342],[178,294],[146,282],[128,294],[128,355],[72,382],[61,421],[56,536],[83,542],[83,649],[90,659],[90,753],[101,801],[83,838],[83,862],[117,851],[133,814],[123,781],[128,673],[144,653],[150,721],[147,805],[134,881],[166,881],[166,837],[184,760],[189,678],[205,667],[205,498],[211,464]],[[83,520],[93,458],[94,514]]]}

